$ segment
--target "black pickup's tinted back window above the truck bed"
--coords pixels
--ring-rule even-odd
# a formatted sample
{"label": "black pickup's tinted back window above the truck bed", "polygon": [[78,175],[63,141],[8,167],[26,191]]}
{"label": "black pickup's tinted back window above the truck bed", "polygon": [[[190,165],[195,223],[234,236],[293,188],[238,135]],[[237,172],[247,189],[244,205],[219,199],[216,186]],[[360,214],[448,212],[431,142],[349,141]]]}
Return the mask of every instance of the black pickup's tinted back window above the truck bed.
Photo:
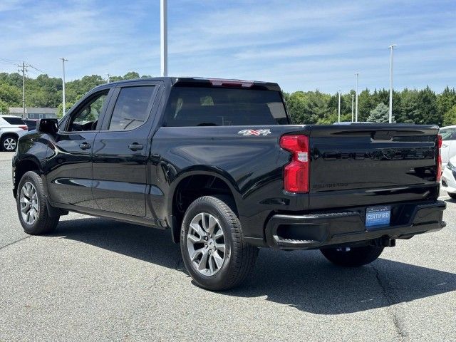
{"label": "black pickup's tinted back window above the truck bed", "polygon": [[286,125],[278,91],[173,87],[166,126]]}

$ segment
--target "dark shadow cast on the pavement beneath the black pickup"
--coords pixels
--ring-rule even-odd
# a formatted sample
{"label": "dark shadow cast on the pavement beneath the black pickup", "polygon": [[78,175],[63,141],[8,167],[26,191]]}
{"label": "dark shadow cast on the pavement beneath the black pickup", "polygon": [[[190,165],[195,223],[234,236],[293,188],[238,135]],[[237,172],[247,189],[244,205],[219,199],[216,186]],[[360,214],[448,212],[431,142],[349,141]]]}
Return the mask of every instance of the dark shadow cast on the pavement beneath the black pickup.
{"label": "dark shadow cast on the pavement beneath the black pickup", "polygon": [[[171,242],[170,232],[90,218],[61,223],[53,235],[183,269],[180,249]],[[456,274],[399,261],[378,259],[351,269],[333,266],[318,251],[261,249],[247,284],[222,294],[266,296],[269,301],[314,314],[346,314],[455,290]]]}

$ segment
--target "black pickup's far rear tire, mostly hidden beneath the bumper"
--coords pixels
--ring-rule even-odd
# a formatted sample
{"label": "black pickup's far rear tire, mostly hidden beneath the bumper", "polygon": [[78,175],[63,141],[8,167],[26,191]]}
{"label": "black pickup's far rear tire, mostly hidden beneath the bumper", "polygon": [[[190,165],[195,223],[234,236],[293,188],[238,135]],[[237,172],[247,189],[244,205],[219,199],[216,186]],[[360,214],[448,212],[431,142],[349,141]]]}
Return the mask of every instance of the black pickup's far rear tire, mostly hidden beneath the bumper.
{"label": "black pickup's far rear tire, mostly hidden beneath the bumper", "polygon": [[372,261],[380,257],[383,247],[363,246],[351,247],[346,251],[341,248],[320,249],[326,259],[338,266],[358,267],[371,264]]}

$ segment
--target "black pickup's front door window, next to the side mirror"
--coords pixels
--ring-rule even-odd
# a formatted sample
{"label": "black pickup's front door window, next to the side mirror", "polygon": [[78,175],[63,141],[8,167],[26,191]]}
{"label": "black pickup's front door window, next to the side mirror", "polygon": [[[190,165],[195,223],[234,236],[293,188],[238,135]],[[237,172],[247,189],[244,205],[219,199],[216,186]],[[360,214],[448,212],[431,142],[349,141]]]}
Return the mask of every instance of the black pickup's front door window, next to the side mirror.
{"label": "black pickup's front door window, next to the side mirror", "polygon": [[78,109],[71,115],[68,131],[81,132],[86,130],[96,130],[98,118],[106,105],[106,98],[109,90],[98,93],[86,105]]}

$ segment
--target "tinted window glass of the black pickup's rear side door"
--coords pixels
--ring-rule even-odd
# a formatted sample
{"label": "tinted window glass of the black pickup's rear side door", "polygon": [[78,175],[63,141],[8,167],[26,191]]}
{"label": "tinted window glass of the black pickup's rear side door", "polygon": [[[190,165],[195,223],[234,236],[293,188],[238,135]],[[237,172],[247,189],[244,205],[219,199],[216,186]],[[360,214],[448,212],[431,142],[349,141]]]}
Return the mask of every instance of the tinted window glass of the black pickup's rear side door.
{"label": "tinted window glass of the black pickup's rear side door", "polygon": [[147,121],[154,86],[122,88],[115,102],[109,130],[134,130]]}

